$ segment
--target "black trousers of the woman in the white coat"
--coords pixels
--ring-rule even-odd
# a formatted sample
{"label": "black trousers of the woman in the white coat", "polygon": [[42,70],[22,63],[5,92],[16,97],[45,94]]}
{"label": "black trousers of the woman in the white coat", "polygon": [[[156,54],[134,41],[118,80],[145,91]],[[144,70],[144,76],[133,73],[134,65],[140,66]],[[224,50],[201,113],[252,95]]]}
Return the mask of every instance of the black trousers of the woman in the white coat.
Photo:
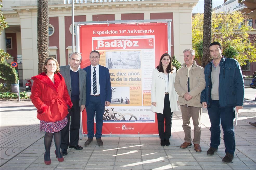
{"label": "black trousers of the woman in the white coat", "polygon": [[[177,102],[177,101],[175,101]],[[158,133],[161,140],[169,140],[171,137],[171,124],[172,124],[172,112],[169,102],[169,94],[164,96],[164,111],[163,114],[156,113]],[[164,131],[164,119],[165,119],[165,131]]]}

